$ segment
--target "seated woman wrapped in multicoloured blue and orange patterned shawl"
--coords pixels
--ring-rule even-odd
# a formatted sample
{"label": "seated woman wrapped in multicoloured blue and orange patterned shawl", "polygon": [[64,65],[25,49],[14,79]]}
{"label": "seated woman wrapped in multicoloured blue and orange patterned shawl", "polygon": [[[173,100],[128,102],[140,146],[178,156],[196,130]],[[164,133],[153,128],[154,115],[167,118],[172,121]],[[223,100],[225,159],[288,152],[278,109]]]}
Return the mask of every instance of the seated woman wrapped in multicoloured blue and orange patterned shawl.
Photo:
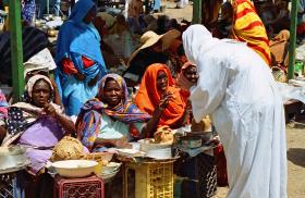
{"label": "seated woman wrapped in multicoloured blue and orange patterned shawl", "polygon": [[130,102],[123,77],[108,74],[101,79],[97,98],[87,101],[77,117],[77,136],[90,151],[129,147],[129,141],[156,132],[160,116],[142,112]]}

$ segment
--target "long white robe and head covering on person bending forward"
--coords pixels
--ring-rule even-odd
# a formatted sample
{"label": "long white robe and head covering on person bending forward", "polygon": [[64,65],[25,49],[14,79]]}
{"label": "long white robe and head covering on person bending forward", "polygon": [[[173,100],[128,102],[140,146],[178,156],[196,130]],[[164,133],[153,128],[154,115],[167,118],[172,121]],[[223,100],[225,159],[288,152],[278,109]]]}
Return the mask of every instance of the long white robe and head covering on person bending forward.
{"label": "long white robe and head covering on person bending forward", "polygon": [[202,25],[183,34],[199,79],[191,89],[198,122],[210,114],[223,143],[230,198],[286,197],[283,104],[269,67],[244,44],[219,40]]}

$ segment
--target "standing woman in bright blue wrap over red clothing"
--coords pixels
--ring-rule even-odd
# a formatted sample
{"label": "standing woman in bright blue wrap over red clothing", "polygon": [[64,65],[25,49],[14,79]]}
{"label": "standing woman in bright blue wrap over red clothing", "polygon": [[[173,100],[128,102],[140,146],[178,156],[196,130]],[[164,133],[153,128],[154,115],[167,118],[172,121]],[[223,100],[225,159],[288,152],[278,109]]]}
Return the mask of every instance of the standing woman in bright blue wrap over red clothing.
{"label": "standing woman in bright blue wrap over red clothing", "polygon": [[68,115],[80,113],[82,106],[96,95],[97,82],[107,72],[100,36],[91,23],[96,12],[91,0],[77,1],[59,32],[56,74]]}

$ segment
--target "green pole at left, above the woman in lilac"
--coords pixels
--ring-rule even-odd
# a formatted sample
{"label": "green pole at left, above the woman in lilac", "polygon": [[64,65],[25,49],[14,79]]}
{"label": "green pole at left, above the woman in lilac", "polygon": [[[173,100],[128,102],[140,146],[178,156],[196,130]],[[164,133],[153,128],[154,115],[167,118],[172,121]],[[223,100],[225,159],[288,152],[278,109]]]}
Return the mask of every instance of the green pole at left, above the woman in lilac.
{"label": "green pole at left, above the woman in lilac", "polygon": [[10,0],[9,8],[13,94],[14,99],[20,100],[24,91],[21,1]]}

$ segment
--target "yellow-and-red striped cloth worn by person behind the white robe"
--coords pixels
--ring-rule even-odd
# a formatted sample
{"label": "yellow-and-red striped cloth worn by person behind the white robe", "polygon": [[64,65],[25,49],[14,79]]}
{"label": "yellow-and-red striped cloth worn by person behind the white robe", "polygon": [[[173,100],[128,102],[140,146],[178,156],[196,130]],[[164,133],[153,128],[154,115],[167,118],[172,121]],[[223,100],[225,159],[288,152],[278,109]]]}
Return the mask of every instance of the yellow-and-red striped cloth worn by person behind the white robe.
{"label": "yellow-and-red striped cloth worn by person behind the white robe", "polygon": [[271,54],[265,26],[249,0],[232,0],[234,9],[233,38],[247,42],[270,65]]}

